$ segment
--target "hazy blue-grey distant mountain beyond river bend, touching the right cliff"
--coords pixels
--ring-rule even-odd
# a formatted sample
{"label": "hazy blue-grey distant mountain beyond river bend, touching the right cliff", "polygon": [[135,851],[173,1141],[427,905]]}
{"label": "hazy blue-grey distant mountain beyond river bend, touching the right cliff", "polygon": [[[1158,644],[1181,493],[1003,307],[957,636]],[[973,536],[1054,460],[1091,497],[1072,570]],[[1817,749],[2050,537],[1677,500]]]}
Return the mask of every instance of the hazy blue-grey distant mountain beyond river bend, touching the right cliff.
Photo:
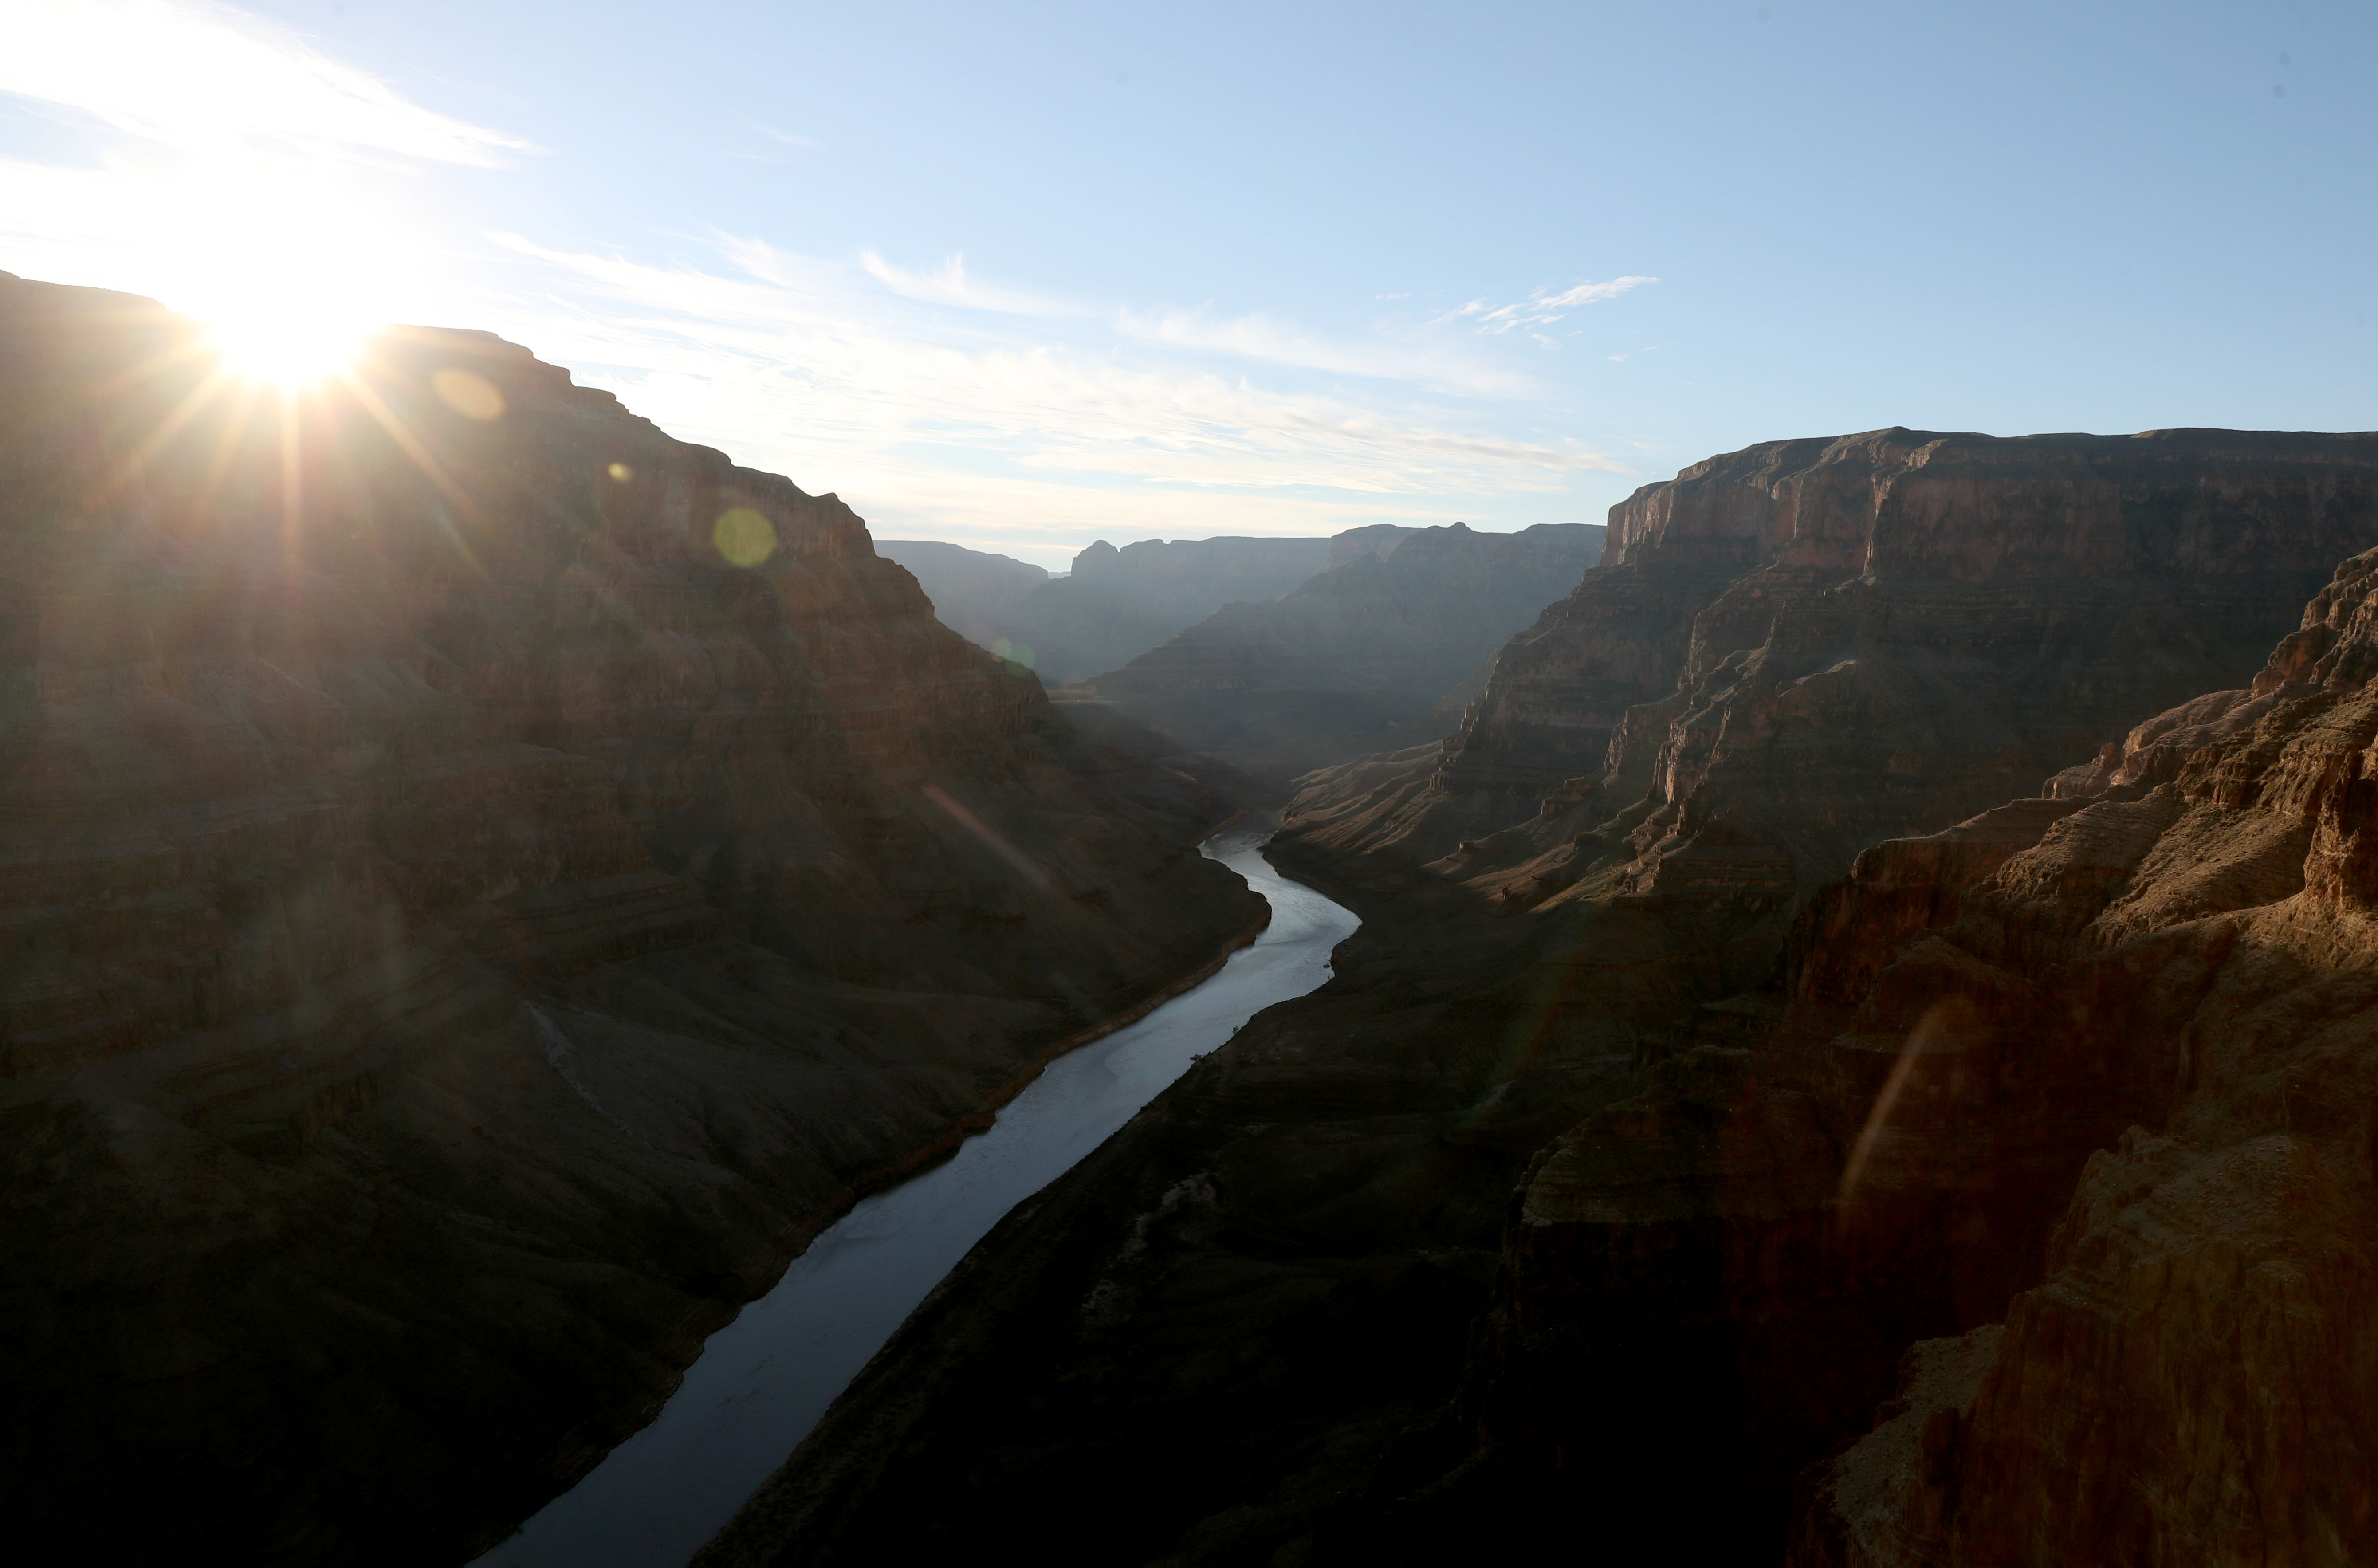
{"label": "hazy blue-grey distant mountain beyond river bend, touching the right cliff", "polygon": [[1600,552],[1598,523],[1403,533],[1277,600],[1225,604],[1063,697],[1111,702],[1284,797],[1310,769],[1436,740],[1446,700],[1477,695],[1465,688],[1496,650]]}

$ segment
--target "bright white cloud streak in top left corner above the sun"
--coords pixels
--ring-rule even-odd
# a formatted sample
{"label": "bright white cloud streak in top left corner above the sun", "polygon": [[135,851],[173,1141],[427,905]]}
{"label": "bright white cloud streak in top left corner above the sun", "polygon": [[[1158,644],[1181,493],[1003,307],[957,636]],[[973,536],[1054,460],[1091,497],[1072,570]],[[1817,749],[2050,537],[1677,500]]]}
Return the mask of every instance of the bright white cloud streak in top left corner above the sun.
{"label": "bright white cloud streak in top left corner above the sun", "polygon": [[164,143],[276,136],[447,164],[533,150],[212,0],[0,0],[0,93]]}

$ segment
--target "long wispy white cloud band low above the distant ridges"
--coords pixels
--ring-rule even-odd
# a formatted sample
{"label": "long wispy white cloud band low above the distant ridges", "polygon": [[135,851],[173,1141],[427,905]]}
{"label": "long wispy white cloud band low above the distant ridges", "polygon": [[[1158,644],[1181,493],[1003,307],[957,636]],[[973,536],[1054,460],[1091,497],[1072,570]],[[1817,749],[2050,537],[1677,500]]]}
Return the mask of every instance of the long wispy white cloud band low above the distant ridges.
{"label": "long wispy white cloud band low above the distant ridges", "polygon": [[854,471],[897,495],[920,471],[958,469],[1070,476],[1103,485],[1108,507],[1156,490],[1303,490],[1377,509],[1622,471],[1584,443],[1479,428],[1408,397],[1265,388],[1132,340],[954,326],[761,245],[737,247],[735,271],[509,245],[545,269],[549,300],[514,314],[516,335],[594,366],[668,428],[847,493]]}

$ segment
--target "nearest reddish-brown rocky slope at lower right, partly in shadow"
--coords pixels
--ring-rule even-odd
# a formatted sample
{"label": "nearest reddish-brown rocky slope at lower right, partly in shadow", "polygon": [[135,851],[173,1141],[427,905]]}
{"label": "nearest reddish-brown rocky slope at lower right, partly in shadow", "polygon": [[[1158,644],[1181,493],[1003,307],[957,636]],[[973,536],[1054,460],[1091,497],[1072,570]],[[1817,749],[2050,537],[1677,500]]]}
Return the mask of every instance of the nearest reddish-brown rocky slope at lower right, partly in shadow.
{"label": "nearest reddish-brown rocky slope at lower right, partly in shadow", "polygon": [[[1784,987],[1707,1009],[1748,1028],[1539,1156],[1453,1418],[1472,1501],[1546,1454],[1657,1494],[1717,1432],[1731,1547],[1791,1520],[1793,1563],[2368,1554],[2373,590],[2354,557],[2250,688],[2055,797],[1867,849]],[[1610,1437],[1679,1375],[1698,1430]]]}

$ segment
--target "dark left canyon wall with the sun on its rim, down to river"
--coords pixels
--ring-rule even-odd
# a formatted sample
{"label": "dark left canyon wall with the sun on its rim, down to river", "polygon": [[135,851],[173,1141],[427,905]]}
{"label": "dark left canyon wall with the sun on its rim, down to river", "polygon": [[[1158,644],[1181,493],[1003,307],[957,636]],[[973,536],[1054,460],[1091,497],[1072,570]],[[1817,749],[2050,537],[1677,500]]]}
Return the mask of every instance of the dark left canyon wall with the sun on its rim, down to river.
{"label": "dark left canyon wall with the sun on its rim, down to river", "polygon": [[1260,918],[849,507],[485,333],[283,402],[0,276],[0,616],[43,1561],[459,1561]]}

